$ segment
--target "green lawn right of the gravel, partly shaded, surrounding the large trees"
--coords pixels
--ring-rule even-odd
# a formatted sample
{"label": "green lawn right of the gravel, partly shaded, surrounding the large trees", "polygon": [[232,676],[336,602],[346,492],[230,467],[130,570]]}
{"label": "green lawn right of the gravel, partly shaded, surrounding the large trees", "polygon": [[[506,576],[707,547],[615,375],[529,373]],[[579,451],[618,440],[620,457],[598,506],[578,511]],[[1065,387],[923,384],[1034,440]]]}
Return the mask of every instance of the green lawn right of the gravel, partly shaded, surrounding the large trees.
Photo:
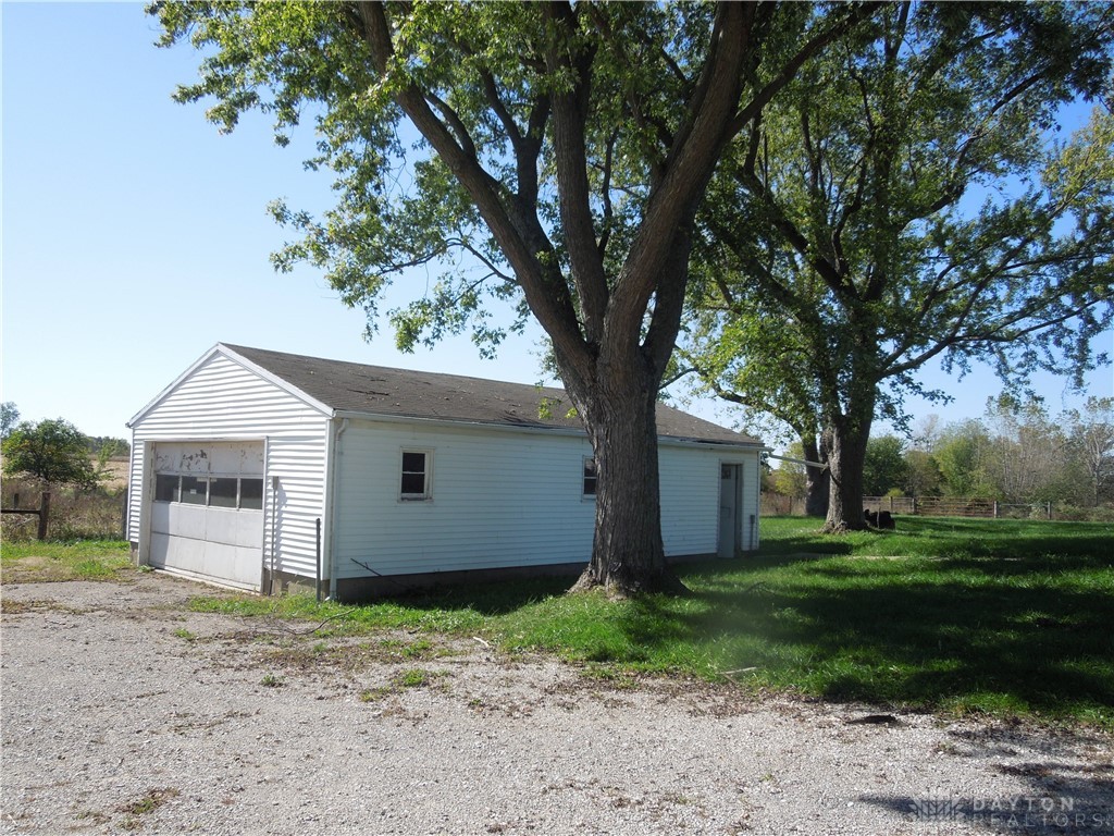
{"label": "green lawn right of the gravel, partly shaded, surrounding the large trees", "polygon": [[[762,521],[756,555],[681,568],[688,597],[564,595],[568,580],[447,589],[367,606],[194,599],[196,610],[482,635],[586,673],[731,680],[891,708],[1114,729],[1114,525],[899,517],[820,536]],[[6,546],[6,575],[7,575]]]}

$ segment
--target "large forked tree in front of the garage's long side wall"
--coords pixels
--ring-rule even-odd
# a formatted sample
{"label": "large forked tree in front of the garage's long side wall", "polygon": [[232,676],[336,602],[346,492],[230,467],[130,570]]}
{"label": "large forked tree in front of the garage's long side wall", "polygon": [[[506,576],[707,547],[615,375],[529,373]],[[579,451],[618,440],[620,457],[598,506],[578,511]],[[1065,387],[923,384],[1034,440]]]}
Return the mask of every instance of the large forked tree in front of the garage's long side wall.
{"label": "large forked tree in front of the garage's long side wall", "polygon": [[[680,327],[697,207],[729,143],[794,72],[864,18],[780,3],[178,3],[163,43],[204,50],[201,80],[232,129],[252,108],[284,140],[316,115],[339,202],[278,205],[349,304],[413,265],[448,266],[395,312],[403,346],[473,329],[487,293],[548,334],[596,456],[582,584],[677,585],[661,535],[654,405]],[[418,139],[416,143],[414,139]],[[467,252],[483,264],[461,274]]]}

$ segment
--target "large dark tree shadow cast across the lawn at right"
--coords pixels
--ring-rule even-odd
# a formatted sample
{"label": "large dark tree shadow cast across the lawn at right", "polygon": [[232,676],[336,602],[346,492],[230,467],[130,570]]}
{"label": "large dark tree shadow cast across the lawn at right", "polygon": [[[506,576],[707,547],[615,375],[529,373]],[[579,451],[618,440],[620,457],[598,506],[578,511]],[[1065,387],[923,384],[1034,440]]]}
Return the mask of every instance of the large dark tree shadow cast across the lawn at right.
{"label": "large dark tree shadow cast across the lawn at right", "polygon": [[1110,574],[1095,589],[1064,580],[1093,568],[1089,557],[945,561],[917,580],[900,561],[856,563],[799,564],[749,592],[712,584],[697,593],[704,613],[673,618],[694,643],[731,622],[739,641],[723,670],[755,667],[768,684],[827,699],[1110,719]]}

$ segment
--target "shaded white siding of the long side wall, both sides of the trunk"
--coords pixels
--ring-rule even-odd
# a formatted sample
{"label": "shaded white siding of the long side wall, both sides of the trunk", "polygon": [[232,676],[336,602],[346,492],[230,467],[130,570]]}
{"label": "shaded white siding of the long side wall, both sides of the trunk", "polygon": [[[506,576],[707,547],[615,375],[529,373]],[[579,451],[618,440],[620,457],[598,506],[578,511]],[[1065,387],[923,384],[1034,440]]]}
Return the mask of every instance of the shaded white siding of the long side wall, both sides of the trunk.
{"label": "shaded white siding of the long side wall, both sides of the trunk", "polygon": [[[590,557],[595,504],[584,502],[584,461],[592,457],[585,437],[352,420],[341,445],[339,579]],[[403,449],[436,449],[431,502],[399,502]],[[667,555],[715,553],[722,461],[744,466],[742,544],[751,547],[756,453],[664,443],[659,461]]]}

